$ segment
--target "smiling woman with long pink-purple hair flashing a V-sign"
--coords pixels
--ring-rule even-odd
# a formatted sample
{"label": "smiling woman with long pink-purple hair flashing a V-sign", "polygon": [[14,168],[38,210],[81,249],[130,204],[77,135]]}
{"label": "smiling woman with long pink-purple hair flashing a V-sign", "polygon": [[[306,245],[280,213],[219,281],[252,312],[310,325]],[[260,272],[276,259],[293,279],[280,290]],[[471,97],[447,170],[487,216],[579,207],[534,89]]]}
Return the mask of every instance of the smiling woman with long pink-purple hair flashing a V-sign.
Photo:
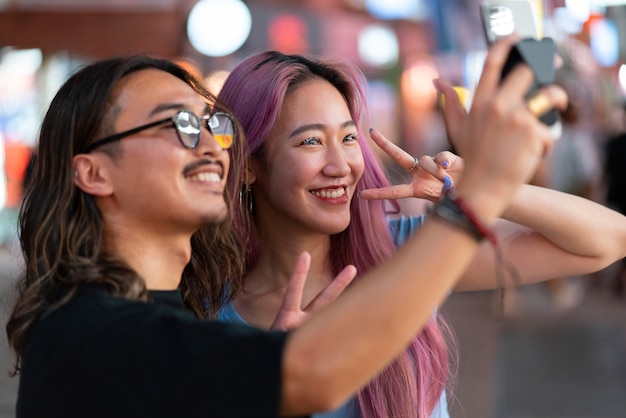
{"label": "smiling woman with long pink-purple hair flashing a V-sign", "polygon": [[[436,85],[447,99],[444,115],[456,146],[467,135],[468,115],[451,86]],[[358,282],[422,228],[426,217],[391,219],[388,203],[396,208],[394,199],[406,197],[445,202],[453,193],[442,195],[450,180],[467,175],[451,153],[418,160],[372,130],[371,139],[413,174],[411,184],[390,186],[365,136],[364,86],[363,74],[349,63],[276,51],[248,57],[226,79],[218,98],[242,124],[250,158],[236,170],[242,177],[229,179],[232,195],[239,193],[235,224],[248,248],[245,276],[233,277],[229,293],[217,297],[228,300],[222,320],[271,328],[276,318],[295,317],[290,325],[296,326],[314,317],[309,304],[342,268],[355,265]],[[596,271],[626,252],[626,217],[578,196],[525,185],[504,218],[493,238],[517,284]],[[290,272],[302,251],[311,254],[311,269],[306,283],[294,284]],[[502,286],[497,254],[482,244],[455,290]],[[428,280],[439,280],[438,274]],[[339,409],[316,416],[449,416],[445,329],[435,312],[384,373]]]}

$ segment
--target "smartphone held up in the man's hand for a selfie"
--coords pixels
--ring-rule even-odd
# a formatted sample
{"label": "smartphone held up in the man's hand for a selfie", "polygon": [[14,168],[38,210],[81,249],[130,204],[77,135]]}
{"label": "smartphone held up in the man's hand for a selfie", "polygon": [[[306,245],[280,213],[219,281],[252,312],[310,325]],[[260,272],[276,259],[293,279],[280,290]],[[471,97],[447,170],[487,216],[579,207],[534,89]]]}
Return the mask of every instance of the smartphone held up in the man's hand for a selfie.
{"label": "smartphone held up in the man's hand for a selfie", "polygon": [[[555,77],[554,56],[556,45],[551,38],[539,39],[535,15],[531,4],[526,0],[483,1],[480,16],[485,31],[485,39],[490,45],[502,36],[518,34],[522,39],[511,48],[502,68],[503,80],[517,64],[526,63],[535,73],[535,82],[527,93],[530,97],[542,86],[552,84]],[[552,130],[553,138],[561,136],[562,126],[559,113],[551,109],[539,119]]]}

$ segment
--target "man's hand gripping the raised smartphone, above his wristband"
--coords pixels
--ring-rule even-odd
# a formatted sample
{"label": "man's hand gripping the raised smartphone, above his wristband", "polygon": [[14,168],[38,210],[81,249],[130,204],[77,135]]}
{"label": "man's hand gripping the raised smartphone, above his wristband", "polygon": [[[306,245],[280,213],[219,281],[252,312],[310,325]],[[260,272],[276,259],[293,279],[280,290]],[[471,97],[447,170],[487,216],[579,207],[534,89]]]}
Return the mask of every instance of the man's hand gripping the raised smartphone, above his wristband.
{"label": "man's hand gripping the raised smartphone, above his wristband", "polygon": [[[553,144],[550,129],[528,109],[526,92],[533,82],[527,65],[517,65],[500,82],[501,69],[517,37],[496,42],[489,51],[469,114],[449,83],[435,81],[445,96],[443,116],[448,135],[464,159],[456,186],[459,196],[491,224],[518,187],[530,180]],[[540,90],[551,107],[567,105],[565,91],[551,85]]]}

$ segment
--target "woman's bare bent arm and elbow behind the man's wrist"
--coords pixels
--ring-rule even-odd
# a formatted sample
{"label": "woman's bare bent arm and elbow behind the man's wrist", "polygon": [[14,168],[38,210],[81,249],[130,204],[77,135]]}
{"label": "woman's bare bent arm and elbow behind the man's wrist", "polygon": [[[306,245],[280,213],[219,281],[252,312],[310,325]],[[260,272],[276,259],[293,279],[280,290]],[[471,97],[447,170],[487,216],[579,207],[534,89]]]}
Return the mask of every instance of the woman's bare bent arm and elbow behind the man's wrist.
{"label": "woman's bare bent arm and elbow behind the man's wrist", "polygon": [[[626,217],[582,197],[524,185],[503,218],[495,230],[517,284],[587,274],[626,257]],[[481,245],[455,290],[493,289],[494,264],[493,250]]]}

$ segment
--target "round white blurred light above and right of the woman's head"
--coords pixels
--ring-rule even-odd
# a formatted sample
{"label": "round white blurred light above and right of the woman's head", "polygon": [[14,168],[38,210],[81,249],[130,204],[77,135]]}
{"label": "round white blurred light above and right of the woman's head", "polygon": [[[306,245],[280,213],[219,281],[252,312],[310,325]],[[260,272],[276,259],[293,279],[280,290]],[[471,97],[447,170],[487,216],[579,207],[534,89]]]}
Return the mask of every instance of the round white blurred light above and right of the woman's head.
{"label": "round white blurred light above and right of the woman's head", "polygon": [[369,25],[359,33],[359,56],[368,65],[389,68],[398,62],[398,38],[386,25]]}

